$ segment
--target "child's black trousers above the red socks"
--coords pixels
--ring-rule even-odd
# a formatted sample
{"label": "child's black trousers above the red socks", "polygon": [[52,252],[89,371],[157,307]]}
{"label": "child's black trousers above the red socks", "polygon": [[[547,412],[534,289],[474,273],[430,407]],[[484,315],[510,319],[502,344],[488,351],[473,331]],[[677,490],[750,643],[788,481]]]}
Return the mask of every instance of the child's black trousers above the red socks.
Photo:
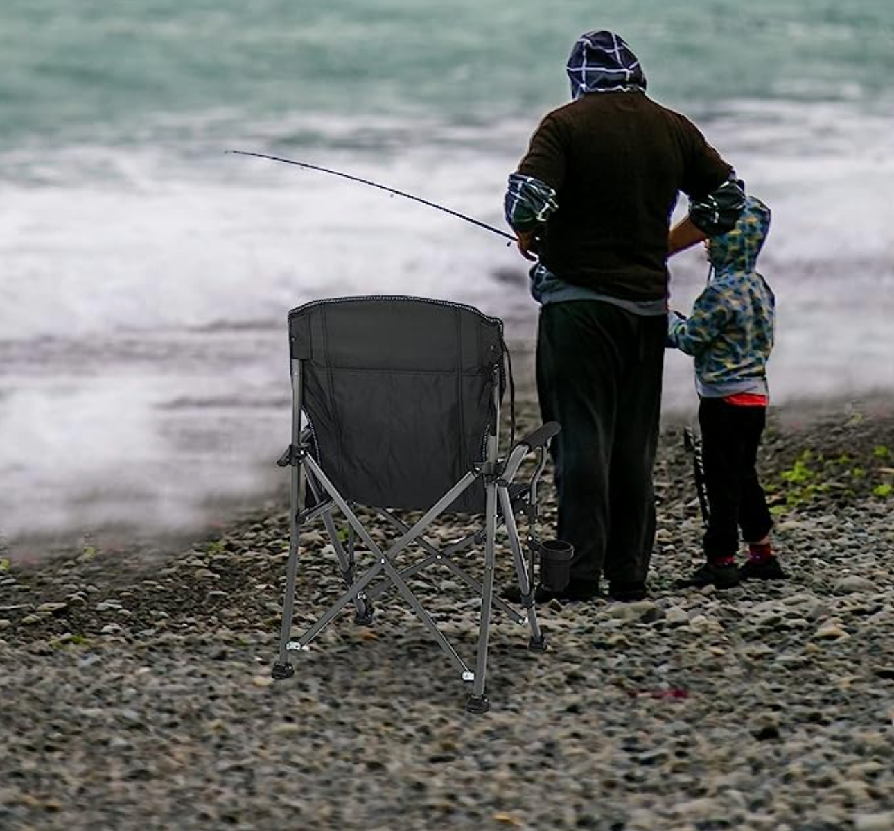
{"label": "child's black trousers above the red socks", "polygon": [[739,529],[746,542],[757,542],[772,528],[756,470],[766,418],[764,407],[730,404],[721,398],[703,398],[698,405],[710,509],[704,533],[704,554],[709,561],[738,553]]}

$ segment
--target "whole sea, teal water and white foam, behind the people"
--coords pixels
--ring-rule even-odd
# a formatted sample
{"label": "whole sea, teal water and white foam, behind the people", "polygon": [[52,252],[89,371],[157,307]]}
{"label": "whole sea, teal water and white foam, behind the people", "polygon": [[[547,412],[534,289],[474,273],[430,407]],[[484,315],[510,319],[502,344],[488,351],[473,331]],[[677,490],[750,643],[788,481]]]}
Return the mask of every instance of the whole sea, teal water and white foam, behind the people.
{"label": "whole sea, teal water and white foam, behind the people", "polygon": [[[530,339],[527,265],[366,176],[503,227],[506,176],[620,32],[773,209],[773,399],[894,392],[889,0],[4,0],[0,537],[199,528],[274,486],[285,314],[325,296],[477,305]],[[672,263],[686,310],[706,276]],[[669,355],[665,406],[690,411]]]}

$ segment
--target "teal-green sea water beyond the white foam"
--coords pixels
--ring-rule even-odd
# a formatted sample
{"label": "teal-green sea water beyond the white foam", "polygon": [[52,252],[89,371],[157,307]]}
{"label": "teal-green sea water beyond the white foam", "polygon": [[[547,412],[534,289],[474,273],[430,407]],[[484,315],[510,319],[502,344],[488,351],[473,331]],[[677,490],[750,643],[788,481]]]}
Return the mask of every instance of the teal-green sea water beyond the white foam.
{"label": "teal-green sea water beyond the white foam", "polygon": [[5,0],[0,140],[212,138],[308,114],[529,118],[565,98],[569,46],[592,28],[627,38],[670,106],[890,106],[888,0],[613,5]]}

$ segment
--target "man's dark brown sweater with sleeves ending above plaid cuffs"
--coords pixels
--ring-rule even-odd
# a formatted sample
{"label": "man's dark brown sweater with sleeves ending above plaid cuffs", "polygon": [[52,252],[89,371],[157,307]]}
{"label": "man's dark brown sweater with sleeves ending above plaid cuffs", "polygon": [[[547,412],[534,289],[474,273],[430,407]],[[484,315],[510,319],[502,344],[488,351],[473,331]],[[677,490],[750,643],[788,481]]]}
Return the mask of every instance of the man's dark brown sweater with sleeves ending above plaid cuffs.
{"label": "man's dark brown sweater with sleeves ending above plaid cuffs", "polygon": [[653,301],[667,294],[679,191],[709,198],[732,168],[685,116],[644,92],[606,91],[546,115],[518,174],[556,191],[541,229],[544,267],[569,284]]}

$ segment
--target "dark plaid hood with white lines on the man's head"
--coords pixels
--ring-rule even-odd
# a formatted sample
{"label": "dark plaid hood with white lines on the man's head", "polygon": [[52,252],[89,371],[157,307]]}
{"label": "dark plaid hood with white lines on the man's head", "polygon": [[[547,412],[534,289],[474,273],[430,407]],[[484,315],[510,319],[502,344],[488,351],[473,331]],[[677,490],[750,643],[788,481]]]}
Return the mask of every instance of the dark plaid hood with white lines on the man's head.
{"label": "dark plaid hood with white lines on the man's head", "polygon": [[581,35],[566,69],[575,101],[588,92],[645,92],[645,74],[637,55],[614,32]]}

